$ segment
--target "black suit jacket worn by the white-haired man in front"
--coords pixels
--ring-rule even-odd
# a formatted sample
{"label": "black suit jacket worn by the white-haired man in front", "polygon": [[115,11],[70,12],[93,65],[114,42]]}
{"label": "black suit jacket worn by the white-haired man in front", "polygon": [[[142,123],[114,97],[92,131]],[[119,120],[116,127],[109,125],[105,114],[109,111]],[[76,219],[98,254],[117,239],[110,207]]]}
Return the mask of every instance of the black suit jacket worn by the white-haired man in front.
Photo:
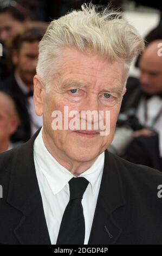
{"label": "black suit jacket worn by the white-haired man in front", "polygon": [[[0,155],[0,243],[48,245],[49,233],[36,178],[33,145]],[[162,244],[162,174],[105,151],[105,166],[89,245]]]}

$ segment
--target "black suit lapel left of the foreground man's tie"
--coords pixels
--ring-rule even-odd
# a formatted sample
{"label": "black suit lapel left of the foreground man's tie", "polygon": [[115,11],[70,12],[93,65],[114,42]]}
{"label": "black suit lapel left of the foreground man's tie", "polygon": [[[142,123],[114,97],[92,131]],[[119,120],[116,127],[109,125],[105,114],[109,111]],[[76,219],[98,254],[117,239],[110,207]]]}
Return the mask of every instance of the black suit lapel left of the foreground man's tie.
{"label": "black suit lapel left of the foreground man's tie", "polygon": [[14,234],[23,245],[50,244],[34,165],[33,147],[38,132],[15,151],[8,193],[8,203],[22,212]]}

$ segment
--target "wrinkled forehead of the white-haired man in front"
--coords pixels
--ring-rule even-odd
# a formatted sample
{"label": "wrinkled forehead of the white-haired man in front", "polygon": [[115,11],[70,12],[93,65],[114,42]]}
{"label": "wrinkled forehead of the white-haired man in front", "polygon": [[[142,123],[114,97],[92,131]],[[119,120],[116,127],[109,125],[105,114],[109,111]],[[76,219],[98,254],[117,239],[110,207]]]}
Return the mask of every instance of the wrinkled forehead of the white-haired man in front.
{"label": "wrinkled forehead of the white-haired man in front", "polygon": [[100,56],[72,49],[63,52],[58,68],[62,88],[120,87],[127,73],[124,62],[110,62]]}

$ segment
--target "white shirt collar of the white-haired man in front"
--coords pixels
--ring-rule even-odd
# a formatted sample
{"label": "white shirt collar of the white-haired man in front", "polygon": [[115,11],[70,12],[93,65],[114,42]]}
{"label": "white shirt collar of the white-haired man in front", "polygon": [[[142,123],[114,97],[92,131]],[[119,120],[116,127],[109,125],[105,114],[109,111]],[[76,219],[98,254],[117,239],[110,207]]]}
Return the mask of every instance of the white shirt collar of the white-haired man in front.
{"label": "white shirt collar of the white-haired man in front", "polygon": [[[48,184],[53,191],[53,194],[59,193],[64,186],[66,186],[70,179],[75,177],[72,173],[64,168],[56,159],[49,153],[44,145],[42,138],[43,127],[35,139],[34,143],[34,160],[38,166],[38,172],[43,172]],[[103,172],[103,166],[105,161],[105,153],[99,155],[98,159],[93,165],[82,173],[79,177],[86,178],[92,188],[92,194],[94,195],[97,189],[100,175]]]}

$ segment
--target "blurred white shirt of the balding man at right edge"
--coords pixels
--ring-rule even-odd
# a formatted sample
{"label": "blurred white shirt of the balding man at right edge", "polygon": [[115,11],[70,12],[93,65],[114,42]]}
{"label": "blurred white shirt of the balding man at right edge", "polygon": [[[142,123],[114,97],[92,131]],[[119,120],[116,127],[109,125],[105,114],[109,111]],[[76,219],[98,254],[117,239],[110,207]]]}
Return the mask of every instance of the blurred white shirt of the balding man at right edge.
{"label": "blurred white shirt of the balding man at right edge", "polygon": [[[153,96],[147,100],[147,124],[145,124],[145,100],[141,99],[139,107],[137,109],[137,117],[142,125],[151,125],[153,119],[162,109],[162,100],[159,96]],[[159,133],[159,151],[160,157],[162,157],[162,114],[157,122],[153,125],[155,131]]]}

